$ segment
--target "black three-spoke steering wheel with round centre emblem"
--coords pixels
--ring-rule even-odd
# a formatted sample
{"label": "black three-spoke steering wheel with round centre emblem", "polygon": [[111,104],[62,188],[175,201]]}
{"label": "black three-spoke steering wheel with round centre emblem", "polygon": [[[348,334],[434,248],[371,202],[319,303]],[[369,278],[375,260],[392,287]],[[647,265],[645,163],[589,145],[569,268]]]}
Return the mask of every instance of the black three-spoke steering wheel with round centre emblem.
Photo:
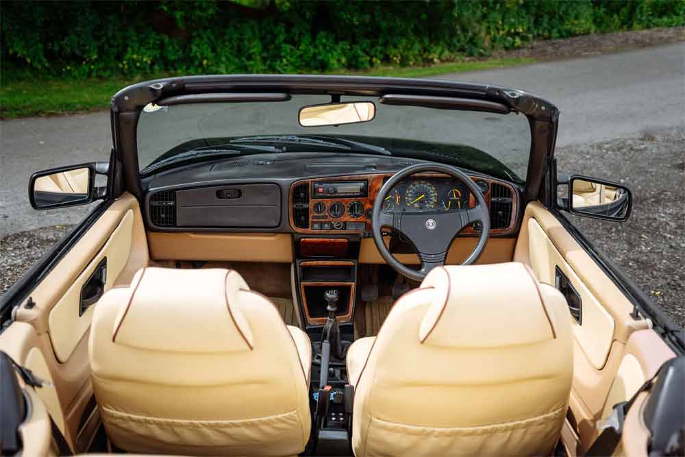
{"label": "black three-spoke steering wheel with round centre emblem", "polygon": [[[454,212],[384,212],[382,210],[386,196],[397,183],[405,177],[425,171],[444,173],[466,184],[476,199],[475,208]],[[490,213],[483,193],[466,173],[454,166],[444,164],[417,164],[395,173],[382,186],[375,201],[373,201],[371,218],[373,240],[381,256],[395,271],[416,281],[423,280],[429,271],[445,264],[449,245],[466,225],[480,221],[482,228],[478,244],[473,248],[471,255],[462,262],[462,265],[469,265],[478,260],[486,243],[488,243],[490,234]],[[400,232],[414,245],[421,261],[418,270],[405,267],[393,254],[390,254],[390,250],[383,240],[382,227],[392,227],[394,232]]]}

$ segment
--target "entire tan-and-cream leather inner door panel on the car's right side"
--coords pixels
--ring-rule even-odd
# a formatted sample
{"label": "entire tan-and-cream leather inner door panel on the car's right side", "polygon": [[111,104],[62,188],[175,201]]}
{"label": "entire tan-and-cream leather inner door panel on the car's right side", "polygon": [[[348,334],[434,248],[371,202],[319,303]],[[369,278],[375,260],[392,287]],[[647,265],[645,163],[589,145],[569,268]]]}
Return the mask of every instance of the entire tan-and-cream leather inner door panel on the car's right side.
{"label": "entire tan-and-cream leather inner door panel on the car's right side", "polygon": [[[661,365],[664,354],[673,353],[662,351],[668,347],[649,330],[646,319],[630,317],[630,300],[537,201],[525,209],[514,261],[529,264],[540,281],[551,285],[556,285],[556,269],[560,269],[581,297],[581,323],[569,318],[574,337],[569,423],[580,436],[570,454],[584,452],[597,436],[597,422],[647,379],[653,364]],[[649,336],[642,336],[643,332]],[[632,334],[636,336],[629,344]],[[649,358],[655,362],[647,362]]]}

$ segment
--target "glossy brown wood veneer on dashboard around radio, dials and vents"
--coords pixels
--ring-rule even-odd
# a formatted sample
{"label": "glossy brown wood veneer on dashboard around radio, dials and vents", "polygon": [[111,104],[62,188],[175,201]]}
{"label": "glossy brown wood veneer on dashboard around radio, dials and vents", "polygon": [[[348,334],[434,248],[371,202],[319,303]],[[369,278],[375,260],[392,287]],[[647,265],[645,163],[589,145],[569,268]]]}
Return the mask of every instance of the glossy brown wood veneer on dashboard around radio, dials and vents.
{"label": "glossy brown wood veneer on dashboard around radio, dials and vents", "polygon": [[[331,234],[360,234],[362,232],[368,232],[371,231],[371,218],[369,218],[369,214],[371,213],[371,210],[373,208],[373,201],[375,201],[376,196],[378,195],[381,187],[383,186],[384,180],[386,177],[392,176],[393,173],[377,173],[377,174],[369,174],[369,175],[351,175],[351,176],[336,176],[336,177],[317,177],[314,179],[309,179],[309,180],[300,180],[292,184],[290,186],[290,192],[288,194],[288,217],[290,219],[290,226],[292,227],[295,232],[301,233],[301,234],[312,234],[312,235],[331,235]],[[448,175],[444,175],[442,173],[416,173],[416,175],[412,175],[408,177],[408,179],[415,179],[415,178],[450,178]],[[519,201],[517,198],[516,190],[514,189],[513,186],[508,184],[507,182],[499,181],[499,180],[493,180],[490,178],[486,177],[479,177],[479,176],[471,176],[471,179],[473,180],[479,180],[479,181],[484,181],[488,183],[488,191],[485,193],[485,201],[486,205],[488,206],[488,210],[490,210],[490,201],[492,198],[492,184],[501,184],[503,186],[506,186],[509,188],[511,195],[512,195],[512,210],[511,210],[511,218],[510,218],[510,223],[506,228],[500,228],[500,229],[494,229],[490,230],[490,234],[508,234],[512,232],[514,229],[514,225],[516,224],[516,214],[518,213],[519,210]],[[366,180],[369,182],[368,186],[368,196],[367,197],[351,197],[351,198],[312,198],[312,185],[314,182],[319,182],[321,180],[325,180],[326,182],[345,182],[345,181],[364,181]],[[303,229],[295,226],[295,220],[293,217],[293,203],[292,203],[292,190],[300,186],[301,184],[308,184],[308,193],[309,193],[309,226],[310,228],[308,229]],[[359,218],[353,218],[349,214],[347,214],[347,207],[349,206],[349,203],[352,203],[353,201],[360,201],[364,205],[364,215]],[[326,210],[323,212],[323,214],[316,214],[314,212],[314,203],[319,203],[323,202],[325,203]],[[337,219],[334,219],[328,215],[328,208],[332,203],[335,202],[340,202],[345,206],[345,214],[343,214],[342,217],[339,217]],[[473,197],[473,194],[471,194],[469,198],[469,208],[474,208],[475,207],[475,197]],[[325,219],[313,219],[314,216],[327,216]],[[343,228],[338,229],[338,230],[312,230],[312,223],[323,223],[323,222],[329,222],[333,223],[334,221],[339,221],[340,223],[343,223]],[[345,230],[345,223],[347,222],[362,222],[364,223],[364,230]],[[466,234],[466,235],[476,235],[477,232],[476,230],[473,229],[473,227],[465,227],[464,230],[460,232],[460,234]]]}

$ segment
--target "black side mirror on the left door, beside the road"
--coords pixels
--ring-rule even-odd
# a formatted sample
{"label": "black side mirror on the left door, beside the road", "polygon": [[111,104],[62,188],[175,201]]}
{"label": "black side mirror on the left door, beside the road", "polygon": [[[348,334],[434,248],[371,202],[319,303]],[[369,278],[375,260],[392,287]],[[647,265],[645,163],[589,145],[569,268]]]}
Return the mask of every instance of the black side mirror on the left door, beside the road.
{"label": "black side mirror on the left door, beside the road", "polygon": [[38,171],[29,179],[29,201],[36,210],[87,205],[105,197],[95,186],[95,175],[106,175],[109,164],[97,162]]}

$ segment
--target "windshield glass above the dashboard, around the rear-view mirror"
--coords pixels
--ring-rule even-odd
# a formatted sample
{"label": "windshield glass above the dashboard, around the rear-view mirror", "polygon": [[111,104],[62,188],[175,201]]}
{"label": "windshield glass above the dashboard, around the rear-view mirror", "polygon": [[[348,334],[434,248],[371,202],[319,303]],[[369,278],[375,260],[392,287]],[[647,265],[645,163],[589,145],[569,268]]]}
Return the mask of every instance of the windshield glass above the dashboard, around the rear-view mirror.
{"label": "windshield glass above the dashboard, around the rear-view mirror", "polygon": [[390,106],[375,97],[341,97],[343,102],[359,100],[375,103],[371,121],[319,127],[301,126],[298,113],[303,106],[329,103],[329,95],[147,106],[138,120],[138,164],[143,170],[183,153],[216,153],[219,146],[235,154],[264,152],[265,147],[275,152],[318,147],[451,162],[486,173],[499,166],[500,175],[525,181],[531,135],[523,114]]}

